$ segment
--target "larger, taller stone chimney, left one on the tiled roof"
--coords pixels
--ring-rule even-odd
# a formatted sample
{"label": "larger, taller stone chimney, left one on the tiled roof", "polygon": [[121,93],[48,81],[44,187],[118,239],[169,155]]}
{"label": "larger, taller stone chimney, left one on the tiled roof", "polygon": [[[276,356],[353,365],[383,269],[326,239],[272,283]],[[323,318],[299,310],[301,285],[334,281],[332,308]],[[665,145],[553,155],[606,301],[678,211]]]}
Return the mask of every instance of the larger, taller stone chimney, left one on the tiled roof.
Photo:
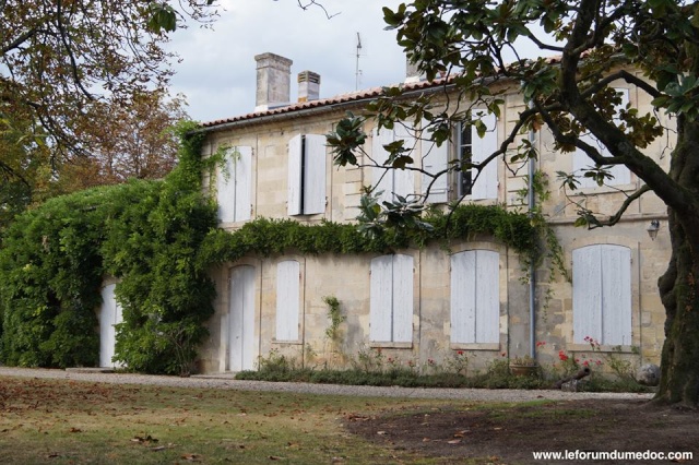
{"label": "larger, taller stone chimney, left one on the tiled roof", "polygon": [[254,57],[258,63],[258,91],[254,111],[288,105],[292,84],[292,63],[288,58],[274,53],[262,53]]}

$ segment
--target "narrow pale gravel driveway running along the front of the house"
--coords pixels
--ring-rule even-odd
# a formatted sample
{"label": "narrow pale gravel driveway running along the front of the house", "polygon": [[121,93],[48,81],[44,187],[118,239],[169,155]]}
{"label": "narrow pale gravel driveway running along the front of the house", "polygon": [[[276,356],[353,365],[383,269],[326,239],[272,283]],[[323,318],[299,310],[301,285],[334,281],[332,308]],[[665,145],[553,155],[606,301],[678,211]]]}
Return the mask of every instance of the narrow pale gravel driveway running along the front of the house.
{"label": "narrow pale gravel driveway running along the front of the house", "polygon": [[152,384],[173,388],[230,389],[238,391],[298,392],[327,395],[360,395],[374,397],[455,398],[460,401],[526,402],[533,400],[585,400],[585,398],[651,398],[652,394],[562,392],[554,390],[485,390],[485,389],[423,389],[379,388],[337,384],[273,383],[266,381],[239,381],[233,374],[206,374],[190,378],[152,374],[100,372],[97,369],[47,370],[34,368],[0,367],[3,377],[50,378],[114,384]]}

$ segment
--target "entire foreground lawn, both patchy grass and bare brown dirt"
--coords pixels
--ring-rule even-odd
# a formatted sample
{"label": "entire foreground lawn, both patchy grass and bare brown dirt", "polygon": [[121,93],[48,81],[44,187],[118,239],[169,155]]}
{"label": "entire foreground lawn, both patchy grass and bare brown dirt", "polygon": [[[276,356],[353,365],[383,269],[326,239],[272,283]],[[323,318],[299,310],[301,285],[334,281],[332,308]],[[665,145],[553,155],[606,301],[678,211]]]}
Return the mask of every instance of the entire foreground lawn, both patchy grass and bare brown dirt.
{"label": "entire foreground lawn, both patchy grass and bare brown dirt", "polygon": [[534,451],[696,460],[697,438],[699,412],[641,396],[503,404],[0,377],[2,464],[532,464]]}

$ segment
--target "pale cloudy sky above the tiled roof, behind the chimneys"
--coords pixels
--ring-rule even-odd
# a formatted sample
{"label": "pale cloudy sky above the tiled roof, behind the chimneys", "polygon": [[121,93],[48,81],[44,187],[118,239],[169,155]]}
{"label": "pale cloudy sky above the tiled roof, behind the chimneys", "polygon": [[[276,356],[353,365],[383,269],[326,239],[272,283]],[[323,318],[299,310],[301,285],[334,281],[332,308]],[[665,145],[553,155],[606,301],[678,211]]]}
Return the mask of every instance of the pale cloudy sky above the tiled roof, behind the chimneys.
{"label": "pale cloudy sky above the tiled roof, behind the chimneys", "polygon": [[[384,31],[382,7],[401,0],[322,0],[325,12],[297,0],[222,0],[213,29],[190,24],[173,35],[170,93],[187,97],[189,116],[212,121],[252,112],[256,94],[254,56],[263,52],[293,60],[292,102],[301,71],[320,74],[320,98],[357,87],[357,33],[362,41],[358,88],[396,84],[405,79],[405,56],[395,31]],[[301,0],[301,3],[308,3]]]}

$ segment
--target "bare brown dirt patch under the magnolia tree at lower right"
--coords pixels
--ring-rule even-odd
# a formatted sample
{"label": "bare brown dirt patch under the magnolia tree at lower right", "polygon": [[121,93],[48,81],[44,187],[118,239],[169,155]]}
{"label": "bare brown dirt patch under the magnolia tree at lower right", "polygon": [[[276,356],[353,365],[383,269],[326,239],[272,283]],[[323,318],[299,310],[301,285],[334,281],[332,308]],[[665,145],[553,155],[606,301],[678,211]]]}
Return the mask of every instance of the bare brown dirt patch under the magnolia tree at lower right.
{"label": "bare brown dirt patch under the magnolia tree at lower right", "polygon": [[[651,463],[651,460],[541,460],[534,451],[692,452],[699,461],[699,413],[647,401],[570,401],[528,406],[458,407],[347,417],[353,433],[445,463]],[[661,461],[655,463],[682,463]],[[690,463],[692,461],[686,461]]]}

